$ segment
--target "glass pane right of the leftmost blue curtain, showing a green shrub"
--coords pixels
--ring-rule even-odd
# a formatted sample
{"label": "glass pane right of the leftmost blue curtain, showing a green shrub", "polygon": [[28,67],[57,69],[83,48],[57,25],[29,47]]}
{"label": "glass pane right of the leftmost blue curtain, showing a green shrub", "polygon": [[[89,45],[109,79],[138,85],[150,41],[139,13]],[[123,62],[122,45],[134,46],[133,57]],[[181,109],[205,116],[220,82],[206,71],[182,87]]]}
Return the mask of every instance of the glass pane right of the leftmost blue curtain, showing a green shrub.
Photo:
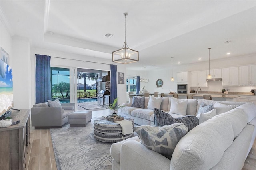
{"label": "glass pane right of the leftmost blue curtain, showing a green shrub", "polygon": [[52,67],[52,99],[59,99],[61,103],[70,102],[69,69]]}

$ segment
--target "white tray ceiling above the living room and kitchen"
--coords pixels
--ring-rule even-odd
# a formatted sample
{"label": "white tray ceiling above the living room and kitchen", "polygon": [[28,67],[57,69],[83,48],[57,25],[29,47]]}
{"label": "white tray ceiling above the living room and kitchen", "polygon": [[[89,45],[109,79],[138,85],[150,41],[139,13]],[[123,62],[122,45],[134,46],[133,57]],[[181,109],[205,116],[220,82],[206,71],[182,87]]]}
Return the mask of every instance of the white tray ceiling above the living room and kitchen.
{"label": "white tray ceiling above the living room and kitchen", "polygon": [[209,47],[211,60],[256,53],[255,0],[0,0],[0,7],[12,36],[84,60],[112,60],[127,12],[126,42],[140,55],[128,70],[170,67],[171,57],[175,65],[208,61]]}

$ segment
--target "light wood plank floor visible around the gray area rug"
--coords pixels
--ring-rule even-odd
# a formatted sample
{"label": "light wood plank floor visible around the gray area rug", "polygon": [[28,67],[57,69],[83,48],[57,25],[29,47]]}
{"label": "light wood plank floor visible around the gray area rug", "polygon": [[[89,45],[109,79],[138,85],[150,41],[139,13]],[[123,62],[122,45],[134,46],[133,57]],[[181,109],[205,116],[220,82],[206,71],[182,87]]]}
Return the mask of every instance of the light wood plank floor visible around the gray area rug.
{"label": "light wood plank floor visible around the gray area rug", "polygon": [[[92,111],[92,117],[110,115],[109,109]],[[31,127],[25,170],[57,170],[50,129]],[[256,140],[242,170],[256,170]]]}

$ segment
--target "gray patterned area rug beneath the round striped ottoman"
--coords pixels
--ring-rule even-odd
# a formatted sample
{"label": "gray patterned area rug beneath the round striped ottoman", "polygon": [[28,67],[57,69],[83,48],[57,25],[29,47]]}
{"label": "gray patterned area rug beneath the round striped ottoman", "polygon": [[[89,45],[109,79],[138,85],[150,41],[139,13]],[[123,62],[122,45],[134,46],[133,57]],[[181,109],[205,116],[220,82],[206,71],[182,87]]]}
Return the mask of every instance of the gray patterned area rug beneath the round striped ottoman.
{"label": "gray patterned area rug beneath the round striped ottoman", "polygon": [[58,170],[112,170],[112,143],[94,138],[94,119],[86,127],[69,127],[67,124],[50,129]]}

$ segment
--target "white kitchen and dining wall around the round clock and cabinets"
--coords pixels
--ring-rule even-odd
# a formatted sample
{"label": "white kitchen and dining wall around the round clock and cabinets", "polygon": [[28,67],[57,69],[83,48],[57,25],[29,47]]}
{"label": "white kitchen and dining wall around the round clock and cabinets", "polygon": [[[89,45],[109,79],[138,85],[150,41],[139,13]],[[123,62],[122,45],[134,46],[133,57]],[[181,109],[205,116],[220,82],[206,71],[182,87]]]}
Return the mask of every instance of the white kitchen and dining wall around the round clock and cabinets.
{"label": "white kitchen and dining wall around the round clock and cabinets", "polygon": [[[239,57],[230,57],[221,60],[213,60],[210,61],[210,69],[219,69],[226,67],[236,67],[242,65],[252,65],[256,64],[256,54],[245,55]],[[172,77],[172,67],[163,68],[163,69],[155,69],[155,70],[146,70],[146,78],[149,79],[149,83],[141,83],[140,87],[145,85],[146,89],[153,93],[154,91],[158,91],[159,93],[169,93],[170,90],[177,92],[177,72],[182,71],[200,71],[200,70],[208,70],[209,63],[198,62],[190,65],[178,65],[173,64],[173,77],[174,81],[170,81]],[[140,71],[127,71],[129,76],[142,76]],[[157,79],[162,79],[164,84],[162,87],[156,87]],[[209,87],[201,87],[202,91],[221,91],[221,89],[229,89],[229,92],[250,92],[250,89],[256,89],[256,87],[245,86],[245,87],[222,87],[221,82],[208,82]],[[191,89],[197,89],[196,87]]]}

